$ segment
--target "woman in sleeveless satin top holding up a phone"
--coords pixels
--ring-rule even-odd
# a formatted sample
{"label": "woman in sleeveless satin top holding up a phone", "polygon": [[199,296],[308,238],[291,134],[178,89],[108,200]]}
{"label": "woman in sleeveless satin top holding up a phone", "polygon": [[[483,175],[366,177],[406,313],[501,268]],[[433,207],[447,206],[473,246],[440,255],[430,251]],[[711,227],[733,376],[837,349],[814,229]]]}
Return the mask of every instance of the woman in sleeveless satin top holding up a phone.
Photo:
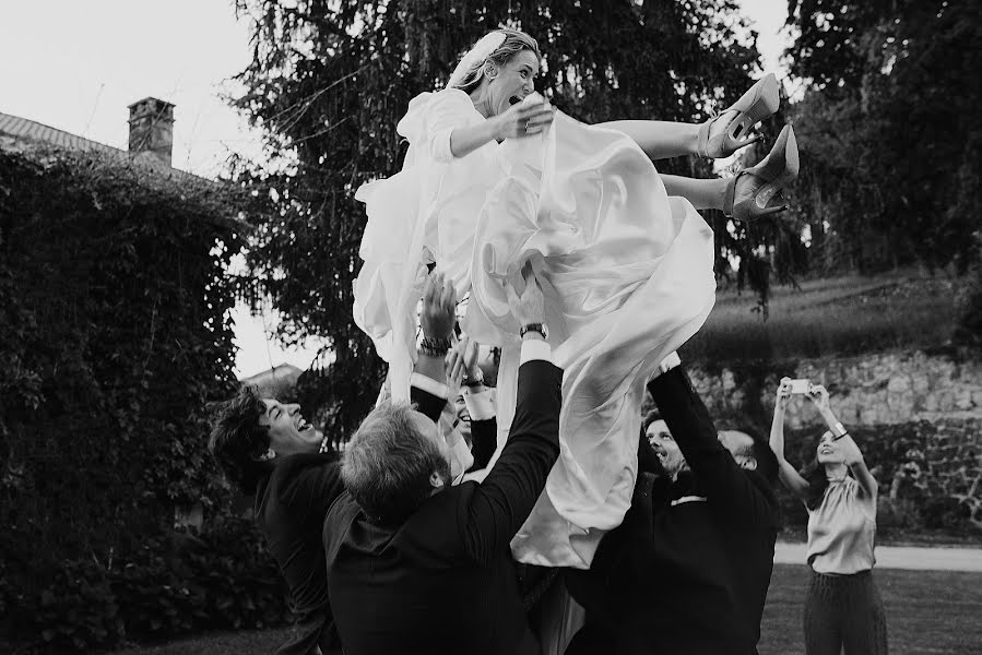
{"label": "woman in sleeveless satin top holding up a phone", "polygon": [[791,380],[778,388],[770,446],[778,457],[781,483],[808,510],[808,565],[805,598],[807,655],[879,655],[887,652],[883,599],[873,581],[876,534],[876,479],[863,454],[829,407],[824,386],[813,385],[815,403],[829,429],[815,460],[801,472],[784,458],[784,412]]}

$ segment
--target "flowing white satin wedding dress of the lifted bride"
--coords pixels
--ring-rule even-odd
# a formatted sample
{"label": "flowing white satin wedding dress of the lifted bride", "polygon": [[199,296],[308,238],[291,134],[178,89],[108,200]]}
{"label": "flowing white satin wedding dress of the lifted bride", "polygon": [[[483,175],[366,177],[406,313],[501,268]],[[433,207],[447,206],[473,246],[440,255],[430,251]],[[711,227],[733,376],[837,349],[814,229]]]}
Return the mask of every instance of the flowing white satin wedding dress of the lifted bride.
{"label": "flowing white satin wedding dress of the lifted bride", "polygon": [[[546,296],[553,358],[565,370],[561,453],[512,551],[529,563],[588,568],[601,536],[630,503],[644,383],[712,308],[712,230],[688,201],[667,196],[651,160],[620,132],[557,112],[540,135],[453,159],[449,131],[484,120],[470,98],[448,90],[414,105],[400,123],[413,157],[399,175],[372,182],[371,193],[358,192],[368,199],[369,225],[356,320],[393,365],[390,376],[399,357],[411,362],[422,276],[407,272],[421,270],[427,248],[458,291],[471,291],[464,330],[502,348],[500,451],[520,357],[519,325],[501,281],[520,279],[522,265],[532,262]],[[414,121],[418,131],[402,132],[424,106],[425,118]],[[412,183],[399,180],[407,172]],[[387,237],[400,240],[367,243]],[[400,284],[404,297],[390,290]],[[389,297],[402,303],[387,305]],[[406,309],[407,318],[400,313]],[[392,381],[395,395],[401,382]]]}

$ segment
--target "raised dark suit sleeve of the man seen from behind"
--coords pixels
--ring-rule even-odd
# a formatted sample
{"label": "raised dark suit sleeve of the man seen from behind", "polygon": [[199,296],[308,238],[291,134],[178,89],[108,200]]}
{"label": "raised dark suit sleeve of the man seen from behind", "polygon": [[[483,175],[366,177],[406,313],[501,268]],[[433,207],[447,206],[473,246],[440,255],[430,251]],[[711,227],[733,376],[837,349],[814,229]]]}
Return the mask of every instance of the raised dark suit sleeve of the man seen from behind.
{"label": "raised dark suit sleeve of the man seen from behind", "polygon": [[486,564],[529,517],[559,456],[563,371],[542,361],[519,369],[518,403],[501,456],[466,507],[463,541],[468,556]]}

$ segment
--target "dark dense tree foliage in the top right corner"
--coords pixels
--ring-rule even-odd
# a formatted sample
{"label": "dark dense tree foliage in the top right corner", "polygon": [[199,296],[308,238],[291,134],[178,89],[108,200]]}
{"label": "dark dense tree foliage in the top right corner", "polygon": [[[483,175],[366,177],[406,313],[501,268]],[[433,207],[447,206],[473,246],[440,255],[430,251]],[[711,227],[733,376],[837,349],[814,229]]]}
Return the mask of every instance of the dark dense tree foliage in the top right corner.
{"label": "dark dense tree foliage in the top right corner", "polygon": [[791,0],[802,215],[827,269],[975,257],[982,5]]}

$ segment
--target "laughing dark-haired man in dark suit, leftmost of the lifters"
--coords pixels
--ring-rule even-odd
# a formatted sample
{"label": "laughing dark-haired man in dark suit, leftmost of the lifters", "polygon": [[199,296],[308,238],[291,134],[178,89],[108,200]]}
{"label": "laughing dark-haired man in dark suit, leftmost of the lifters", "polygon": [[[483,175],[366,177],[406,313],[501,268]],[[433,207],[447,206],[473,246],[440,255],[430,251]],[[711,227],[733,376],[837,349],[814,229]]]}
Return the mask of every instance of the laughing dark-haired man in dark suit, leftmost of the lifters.
{"label": "laughing dark-haired man in dark suit, leftmost of the lifters", "polygon": [[[422,315],[427,338],[449,338],[455,309],[452,285],[439,273],[431,275]],[[413,377],[411,397],[431,422],[448,401],[442,355],[421,353]],[[263,398],[252,388],[222,404],[212,421],[209,448],[229,480],[255,495],[256,522],[289,587],[297,624],[281,655],[341,653],[328,598],[322,527],[344,488],[338,456],[323,452],[324,443],[298,405]]]}

